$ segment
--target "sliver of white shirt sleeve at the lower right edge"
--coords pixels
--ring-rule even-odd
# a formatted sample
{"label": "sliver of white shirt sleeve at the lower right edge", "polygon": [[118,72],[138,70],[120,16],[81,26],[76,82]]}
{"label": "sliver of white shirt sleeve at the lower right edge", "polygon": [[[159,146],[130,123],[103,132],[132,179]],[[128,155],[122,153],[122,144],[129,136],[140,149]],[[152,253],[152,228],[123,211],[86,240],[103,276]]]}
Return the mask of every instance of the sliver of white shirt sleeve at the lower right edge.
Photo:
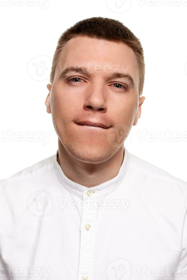
{"label": "sliver of white shirt sleeve at the lower right edge", "polygon": [[173,280],[187,280],[187,211],[182,232],[182,251],[176,270],[174,270]]}

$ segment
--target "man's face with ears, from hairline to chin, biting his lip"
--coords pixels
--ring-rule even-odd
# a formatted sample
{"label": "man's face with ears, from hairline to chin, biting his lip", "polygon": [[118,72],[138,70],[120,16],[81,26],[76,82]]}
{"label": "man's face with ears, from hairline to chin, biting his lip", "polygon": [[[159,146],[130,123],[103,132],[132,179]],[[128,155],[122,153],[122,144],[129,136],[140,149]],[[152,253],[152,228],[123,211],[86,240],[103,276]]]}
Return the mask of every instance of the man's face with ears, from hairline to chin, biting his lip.
{"label": "man's face with ears, from hairline to chin, biting his lip", "polygon": [[[81,69],[65,71],[69,67]],[[128,74],[112,76],[114,72]],[[131,76],[131,77],[130,77]],[[134,81],[134,85],[133,85]],[[76,159],[99,163],[123,147],[145,97],[138,96],[133,50],[120,41],[73,37],[61,51],[45,104],[65,149]],[[107,128],[77,124],[100,123]]]}

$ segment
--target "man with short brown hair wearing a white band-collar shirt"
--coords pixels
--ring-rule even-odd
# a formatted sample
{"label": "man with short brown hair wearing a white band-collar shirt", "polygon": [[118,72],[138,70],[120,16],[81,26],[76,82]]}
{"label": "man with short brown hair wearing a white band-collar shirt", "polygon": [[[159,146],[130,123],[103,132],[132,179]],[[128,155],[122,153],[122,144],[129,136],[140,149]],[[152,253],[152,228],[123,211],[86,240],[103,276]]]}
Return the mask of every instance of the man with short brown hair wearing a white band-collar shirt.
{"label": "man with short brown hair wearing a white band-collar shirt", "polygon": [[144,73],[117,20],[61,35],[45,101],[58,150],[0,182],[1,279],[187,279],[187,183],[124,147]]}

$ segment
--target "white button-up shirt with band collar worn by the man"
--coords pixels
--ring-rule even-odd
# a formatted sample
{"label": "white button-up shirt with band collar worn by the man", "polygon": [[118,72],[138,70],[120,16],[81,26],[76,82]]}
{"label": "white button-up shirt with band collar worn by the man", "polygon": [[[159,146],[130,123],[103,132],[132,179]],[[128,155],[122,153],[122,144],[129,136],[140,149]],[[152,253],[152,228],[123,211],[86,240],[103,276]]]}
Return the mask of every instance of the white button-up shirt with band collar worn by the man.
{"label": "white button-up shirt with band collar worn by the man", "polygon": [[124,149],[95,187],[58,150],[0,181],[0,279],[187,279],[187,183]]}

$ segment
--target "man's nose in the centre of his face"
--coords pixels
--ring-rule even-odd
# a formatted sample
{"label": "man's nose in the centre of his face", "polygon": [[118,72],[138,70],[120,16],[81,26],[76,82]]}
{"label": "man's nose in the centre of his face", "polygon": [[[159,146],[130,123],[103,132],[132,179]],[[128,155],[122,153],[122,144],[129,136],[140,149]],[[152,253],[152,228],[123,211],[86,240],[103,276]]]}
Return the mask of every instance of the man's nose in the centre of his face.
{"label": "man's nose in the centre of his face", "polygon": [[106,112],[107,104],[106,104],[106,92],[104,86],[90,85],[90,88],[87,88],[86,100],[84,102],[84,109],[89,111],[102,111],[102,113]]}

